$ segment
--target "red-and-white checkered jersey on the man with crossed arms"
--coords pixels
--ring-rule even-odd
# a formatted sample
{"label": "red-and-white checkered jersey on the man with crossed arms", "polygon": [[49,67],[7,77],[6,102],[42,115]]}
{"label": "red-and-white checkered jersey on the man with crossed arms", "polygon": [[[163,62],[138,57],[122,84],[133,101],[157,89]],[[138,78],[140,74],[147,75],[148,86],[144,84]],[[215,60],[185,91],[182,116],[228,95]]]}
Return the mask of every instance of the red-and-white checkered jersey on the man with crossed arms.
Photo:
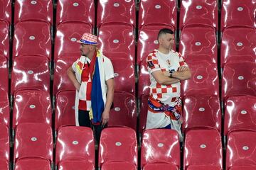
{"label": "red-and-white checkered jersey on the man with crossed arms", "polygon": [[159,84],[152,76],[152,73],[160,70],[162,72],[168,72],[170,70],[177,71],[178,67],[187,66],[181,54],[170,50],[169,54],[166,55],[158,50],[154,50],[146,57],[146,63],[150,74],[150,95],[162,103],[175,106],[181,94],[181,83],[178,82],[171,85]]}

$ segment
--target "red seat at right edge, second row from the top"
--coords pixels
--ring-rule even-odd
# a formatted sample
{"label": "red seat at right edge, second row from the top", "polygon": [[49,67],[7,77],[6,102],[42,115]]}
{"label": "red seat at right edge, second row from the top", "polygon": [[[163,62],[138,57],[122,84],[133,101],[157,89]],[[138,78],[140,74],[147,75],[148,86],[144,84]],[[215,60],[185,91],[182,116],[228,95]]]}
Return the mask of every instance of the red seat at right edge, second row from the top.
{"label": "red seat at right edge, second row from the top", "polygon": [[[242,34],[241,34],[242,33]],[[220,46],[221,67],[226,62],[256,62],[256,30],[253,28],[233,27],[223,31]]]}

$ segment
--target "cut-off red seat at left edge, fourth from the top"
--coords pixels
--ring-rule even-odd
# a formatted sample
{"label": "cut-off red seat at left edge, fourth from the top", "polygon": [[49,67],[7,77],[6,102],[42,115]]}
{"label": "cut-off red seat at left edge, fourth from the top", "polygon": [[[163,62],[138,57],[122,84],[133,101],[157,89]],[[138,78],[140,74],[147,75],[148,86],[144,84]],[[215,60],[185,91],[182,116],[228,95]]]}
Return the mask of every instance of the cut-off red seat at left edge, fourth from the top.
{"label": "cut-off red seat at left edge, fourth from the top", "polygon": [[8,91],[0,89],[0,123],[10,127],[10,111]]}

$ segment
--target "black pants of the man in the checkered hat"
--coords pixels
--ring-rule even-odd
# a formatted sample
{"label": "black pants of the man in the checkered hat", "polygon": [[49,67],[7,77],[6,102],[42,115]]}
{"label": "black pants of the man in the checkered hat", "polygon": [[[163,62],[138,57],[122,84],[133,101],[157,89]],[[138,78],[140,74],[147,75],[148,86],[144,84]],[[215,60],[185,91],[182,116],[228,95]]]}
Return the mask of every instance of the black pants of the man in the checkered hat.
{"label": "black pants of the man in the checkered hat", "polygon": [[[89,117],[89,111],[82,111],[82,110],[78,111],[78,123],[80,126],[93,128],[94,132],[95,132],[95,137],[96,137],[97,143],[100,142],[100,133],[103,129],[102,125],[93,125],[92,124],[90,117]],[[106,127],[106,125],[105,125],[105,127]]]}

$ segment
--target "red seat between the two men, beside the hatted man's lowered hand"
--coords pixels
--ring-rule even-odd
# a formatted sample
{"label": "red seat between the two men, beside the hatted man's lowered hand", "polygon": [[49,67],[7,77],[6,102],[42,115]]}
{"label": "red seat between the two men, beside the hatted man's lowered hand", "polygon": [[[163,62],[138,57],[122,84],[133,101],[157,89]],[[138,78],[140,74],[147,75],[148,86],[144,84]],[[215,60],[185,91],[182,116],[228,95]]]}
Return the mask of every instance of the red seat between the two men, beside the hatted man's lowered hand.
{"label": "red seat between the two men, beside the hatted man's lowered hand", "polygon": [[114,108],[110,110],[108,126],[127,126],[136,130],[137,111],[135,96],[124,91],[114,92]]}

